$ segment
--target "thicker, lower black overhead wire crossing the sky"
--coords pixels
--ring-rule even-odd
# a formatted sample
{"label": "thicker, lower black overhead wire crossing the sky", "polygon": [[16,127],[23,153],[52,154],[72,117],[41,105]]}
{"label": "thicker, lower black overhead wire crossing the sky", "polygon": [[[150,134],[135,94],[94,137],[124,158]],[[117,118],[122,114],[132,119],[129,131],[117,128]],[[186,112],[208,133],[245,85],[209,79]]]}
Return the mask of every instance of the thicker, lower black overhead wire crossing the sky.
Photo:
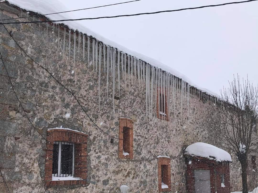
{"label": "thicker, lower black overhead wire crossing the sky", "polygon": [[222,3],[222,4],[216,4],[216,5],[204,5],[204,6],[200,6],[200,7],[189,7],[189,8],[181,8],[181,9],[176,9],[176,10],[166,10],[166,11],[147,12],[147,13],[136,13],[136,14],[129,14],[129,15],[115,15],[115,16],[89,17],[89,18],[80,18],[80,19],[49,20],[49,21],[7,22],[7,23],[0,23],[0,24],[46,23],[46,22],[80,21],[80,20],[95,20],[95,19],[103,19],[103,18],[129,17],[129,16],[136,16],[136,15],[150,15],[150,14],[165,13],[165,12],[176,12],[176,11],[183,11],[183,10],[200,9],[200,8],[205,8],[205,7],[216,7],[216,6],[223,6],[223,5],[230,5],[230,4],[247,3],[247,2],[252,2],[252,1],[258,1],[258,0],[230,2],[230,3]]}

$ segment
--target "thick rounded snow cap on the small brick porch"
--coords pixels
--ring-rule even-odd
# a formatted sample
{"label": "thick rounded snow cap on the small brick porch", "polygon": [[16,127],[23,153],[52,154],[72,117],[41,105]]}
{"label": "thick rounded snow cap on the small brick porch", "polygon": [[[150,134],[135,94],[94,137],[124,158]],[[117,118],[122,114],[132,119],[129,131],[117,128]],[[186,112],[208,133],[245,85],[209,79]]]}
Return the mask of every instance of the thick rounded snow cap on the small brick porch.
{"label": "thick rounded snow cap on the small brick porch", "polygon": [[[222,150],[214,145],[197,142],[189,145],[185,150],[186,155],[205,157],[216,161],[232,161],[231,156],[225,150]],[[215,158],[214,158],[215,157]]]}

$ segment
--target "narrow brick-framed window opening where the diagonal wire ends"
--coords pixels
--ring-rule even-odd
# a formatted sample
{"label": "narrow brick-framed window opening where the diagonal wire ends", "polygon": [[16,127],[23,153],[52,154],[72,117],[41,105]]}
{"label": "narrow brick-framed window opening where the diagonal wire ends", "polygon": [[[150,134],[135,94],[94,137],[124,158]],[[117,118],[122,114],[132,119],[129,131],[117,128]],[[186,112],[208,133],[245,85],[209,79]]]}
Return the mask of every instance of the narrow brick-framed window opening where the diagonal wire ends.
{"label": "narrow brick-framed window opening where the diagonal wire ends", "polygon": [[[131,119],[119,118],[118,136],[118,158],[133,159],[133,121]],[[123,155],[123,151],[129,153],[129,155]]]}

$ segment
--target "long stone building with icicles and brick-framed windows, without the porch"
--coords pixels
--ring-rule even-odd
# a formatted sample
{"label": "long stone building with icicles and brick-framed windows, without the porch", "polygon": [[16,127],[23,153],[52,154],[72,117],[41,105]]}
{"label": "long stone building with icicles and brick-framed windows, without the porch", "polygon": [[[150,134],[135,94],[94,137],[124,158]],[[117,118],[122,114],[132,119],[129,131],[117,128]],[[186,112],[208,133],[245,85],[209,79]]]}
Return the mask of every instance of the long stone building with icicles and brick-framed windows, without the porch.
{"label": "long stone building with icicles and brick-framed windows, without the porch", "polygon": [[[33,16],[7,21],[47,19],[0,9]],[[62,24],[5,24],[0,35],[1,192],[187,192],[184,150],[213,144],[221,101]]]}

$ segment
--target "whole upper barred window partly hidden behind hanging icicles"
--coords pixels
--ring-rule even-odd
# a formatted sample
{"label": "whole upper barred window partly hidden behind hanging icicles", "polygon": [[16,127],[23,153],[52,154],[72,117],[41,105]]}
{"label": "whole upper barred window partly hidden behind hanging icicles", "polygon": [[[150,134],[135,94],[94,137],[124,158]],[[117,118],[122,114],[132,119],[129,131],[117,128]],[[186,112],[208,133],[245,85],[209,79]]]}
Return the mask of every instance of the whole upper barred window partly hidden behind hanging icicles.
{"label": "whole upper barred window partly hidden behind hanging icicles", "polygon": [[167,93],[158,89],[157,94],[157,117],[168,121]]}

